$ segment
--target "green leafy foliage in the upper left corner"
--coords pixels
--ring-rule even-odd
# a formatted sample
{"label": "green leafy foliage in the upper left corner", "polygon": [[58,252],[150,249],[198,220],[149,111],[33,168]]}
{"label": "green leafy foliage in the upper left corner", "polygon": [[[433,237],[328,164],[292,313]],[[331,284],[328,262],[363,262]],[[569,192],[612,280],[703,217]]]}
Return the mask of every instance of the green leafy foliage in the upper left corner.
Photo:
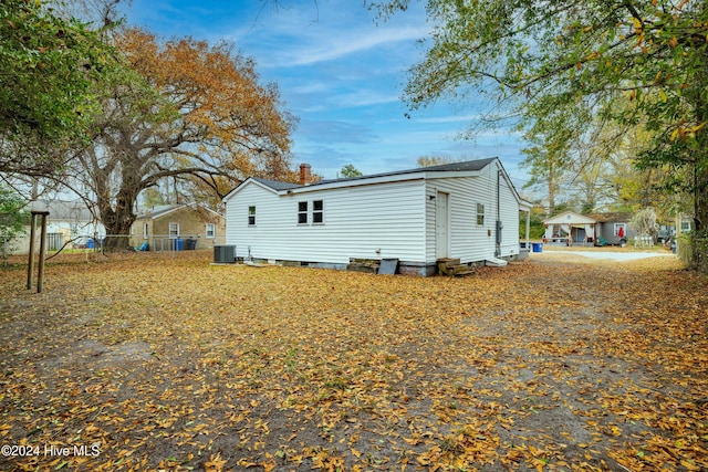
{"label": "green leafy foliage in the upper left corner", "polygon": [[51,174],[63,162],[62,145],[87,139],[98,109],[92,87],[111,51],[98,32],[43,2],[2,1],[0,170]]}

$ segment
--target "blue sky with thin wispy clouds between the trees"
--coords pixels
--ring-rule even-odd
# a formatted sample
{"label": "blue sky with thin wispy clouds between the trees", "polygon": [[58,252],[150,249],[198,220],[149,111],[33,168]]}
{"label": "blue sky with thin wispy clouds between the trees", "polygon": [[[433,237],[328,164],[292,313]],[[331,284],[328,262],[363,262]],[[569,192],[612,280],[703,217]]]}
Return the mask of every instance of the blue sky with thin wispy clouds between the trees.
{"label": "blue sky with thin wispy clouds between the trees", "polygon": [[417,167],[420,156],[496,156],[519,190],[528,179],[518,136],[456,139],[479,113],[473,104],[409,112],[403,103],[407,69],[423,57],[418,40],[429,31],[417,2],[378,24],[364,0],[133,0],[125,14],[164,39],[227,40],[252,56],[299,118],[293,164],[324,178],[346,164],[377,174]]}

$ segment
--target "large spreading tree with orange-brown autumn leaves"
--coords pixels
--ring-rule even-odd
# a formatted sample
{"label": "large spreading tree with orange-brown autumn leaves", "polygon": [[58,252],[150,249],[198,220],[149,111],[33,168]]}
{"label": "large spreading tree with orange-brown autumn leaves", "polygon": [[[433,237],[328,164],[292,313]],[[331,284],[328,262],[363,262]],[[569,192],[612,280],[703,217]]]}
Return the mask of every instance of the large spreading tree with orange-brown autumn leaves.
{"label": "large spreading tree with orange-brown autumn leaves", "polygon": [[[106,88],[95,139],[73,172],[108,234],[129,233],[138,195],[162,179],[223,196],[249,175],[293,178],[294,120],[275,85],[259,84],[252,60],[226,43],[163,43],[139,29],[116,35],[115,45],[137,76],[118,74]],[[122,248],[127,239],[107,243]]]}

